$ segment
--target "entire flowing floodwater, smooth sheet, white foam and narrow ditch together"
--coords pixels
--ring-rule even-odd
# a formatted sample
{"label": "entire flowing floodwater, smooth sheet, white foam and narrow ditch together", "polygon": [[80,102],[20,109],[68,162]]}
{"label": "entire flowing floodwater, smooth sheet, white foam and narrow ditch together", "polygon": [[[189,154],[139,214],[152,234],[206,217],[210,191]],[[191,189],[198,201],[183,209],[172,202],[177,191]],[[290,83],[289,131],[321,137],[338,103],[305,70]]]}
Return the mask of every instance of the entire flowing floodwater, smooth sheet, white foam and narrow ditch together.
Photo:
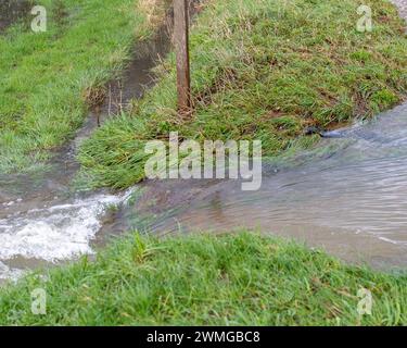
{"label": "entire flowing floodwater, smooth sheet, white foam and narrow ditch together", "polygon": [[[316,149],[266,163],[258,191],[216,179],[145,182],[120,194],[75,191],[78,145],[110,112],[141,97],[154,83],[151,67],[168,50],[166,32],[142,48],[125,77],[111,85],[113,98],[55,151],[44,173],[0,175],[0,282],[92,253],[106,236],[131,228],[156,234],[257,228],[352,262],[407,265],[407,103],[326,134]],[[133,191],[140,197],[130,204]]]}

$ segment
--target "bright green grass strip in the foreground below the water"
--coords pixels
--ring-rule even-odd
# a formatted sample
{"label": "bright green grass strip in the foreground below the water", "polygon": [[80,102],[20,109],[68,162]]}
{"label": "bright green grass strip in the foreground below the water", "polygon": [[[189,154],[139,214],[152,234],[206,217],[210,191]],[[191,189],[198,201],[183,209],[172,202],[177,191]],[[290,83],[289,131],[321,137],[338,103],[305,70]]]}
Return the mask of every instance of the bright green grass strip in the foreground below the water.
{"label": "bright green grass strip in the foreground below the water", "polygon": [[[47,291],[47,314],[30,294]],[[360,316],[360,288],[372,314]],[[0,289],[0,325],[406,325],[407,276],[344,265],[253,233],[155,239],[100,252]]]}

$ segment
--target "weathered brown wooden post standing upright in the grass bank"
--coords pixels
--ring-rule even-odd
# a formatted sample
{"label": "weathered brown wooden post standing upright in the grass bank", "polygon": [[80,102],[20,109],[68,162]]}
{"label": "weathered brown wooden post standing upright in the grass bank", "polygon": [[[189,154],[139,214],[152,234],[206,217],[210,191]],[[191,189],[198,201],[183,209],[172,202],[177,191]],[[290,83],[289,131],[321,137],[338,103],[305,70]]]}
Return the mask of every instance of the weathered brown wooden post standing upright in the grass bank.
{"label": "weathered brown wooden post standing upright in the grass bank", "polygon": [[177,59],[178,111],[191,114],[191,76],[189,61],[189,0],[174,0],[174,44]]}

